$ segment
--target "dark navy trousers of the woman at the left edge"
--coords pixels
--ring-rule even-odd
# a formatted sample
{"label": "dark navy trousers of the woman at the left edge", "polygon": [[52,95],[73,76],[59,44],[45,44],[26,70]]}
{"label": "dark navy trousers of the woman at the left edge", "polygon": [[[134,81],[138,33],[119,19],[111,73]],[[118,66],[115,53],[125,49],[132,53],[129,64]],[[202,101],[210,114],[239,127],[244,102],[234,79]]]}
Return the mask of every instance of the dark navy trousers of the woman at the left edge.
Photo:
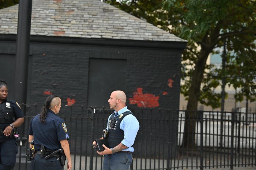
{"label": "dark navy trousers of the woman at the left edge", "polygon": [[0,143],[0,170],[11,170],[16,162],[18,146],[15,139],[6,140]]}

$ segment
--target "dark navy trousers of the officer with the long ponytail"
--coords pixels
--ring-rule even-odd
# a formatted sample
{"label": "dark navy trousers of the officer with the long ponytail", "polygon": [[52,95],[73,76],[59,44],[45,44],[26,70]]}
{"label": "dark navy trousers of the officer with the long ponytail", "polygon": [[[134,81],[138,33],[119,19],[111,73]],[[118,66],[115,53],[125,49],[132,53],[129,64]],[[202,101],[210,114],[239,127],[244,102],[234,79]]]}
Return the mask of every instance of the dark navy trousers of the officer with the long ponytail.
{"label": "dark navy trousers of the officer with the long ponytail", "polygon": [[41,158],[40,154],[35,154],[30,163],[30,170],[63,170],[64,166],[61,166],[60,160],[56,157],[50,157],[48,159]]}

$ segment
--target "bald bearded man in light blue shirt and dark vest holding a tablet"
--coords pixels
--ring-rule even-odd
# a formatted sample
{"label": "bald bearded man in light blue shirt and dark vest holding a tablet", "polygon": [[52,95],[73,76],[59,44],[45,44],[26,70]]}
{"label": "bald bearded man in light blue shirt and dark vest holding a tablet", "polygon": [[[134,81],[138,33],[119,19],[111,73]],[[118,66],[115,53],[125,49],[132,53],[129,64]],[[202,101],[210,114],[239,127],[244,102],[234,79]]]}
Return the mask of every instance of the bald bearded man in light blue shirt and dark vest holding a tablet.
{"label": "bald bearded man in light blue shirt and dark vest holding a tablet", "polygon": [[114,110],[108,118],[107,125],[110,148],[103,145],[105,150],[97,151],[99,155],[106,155],[103,170],[129,170],[132,163],[132,145],[139,130],[139,121],[127,109],[125,102],[126,95],[120,90],[112,92],[108,100],[110,109]]}

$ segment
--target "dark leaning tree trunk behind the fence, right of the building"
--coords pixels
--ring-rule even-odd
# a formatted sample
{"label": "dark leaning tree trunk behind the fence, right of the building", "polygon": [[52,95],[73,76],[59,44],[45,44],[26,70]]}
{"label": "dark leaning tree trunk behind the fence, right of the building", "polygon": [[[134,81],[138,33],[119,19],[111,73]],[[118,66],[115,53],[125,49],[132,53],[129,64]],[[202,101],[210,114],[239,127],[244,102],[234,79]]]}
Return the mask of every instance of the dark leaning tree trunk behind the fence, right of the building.
{"label": "dark leaning tree trunk behind the fence, right of the building", "polygon": [[200,96],[200,86],[203,80],[204,69],[210,49],[202,48],[197,59],[195,70],[193,72],[191,86],[189,88],[189,98],[187,104],[187,111],[185,112],[185,125],[182,146],[186,148],[195,148],[195,130],[196,121],[199,120],[197,116],[197,103]]}

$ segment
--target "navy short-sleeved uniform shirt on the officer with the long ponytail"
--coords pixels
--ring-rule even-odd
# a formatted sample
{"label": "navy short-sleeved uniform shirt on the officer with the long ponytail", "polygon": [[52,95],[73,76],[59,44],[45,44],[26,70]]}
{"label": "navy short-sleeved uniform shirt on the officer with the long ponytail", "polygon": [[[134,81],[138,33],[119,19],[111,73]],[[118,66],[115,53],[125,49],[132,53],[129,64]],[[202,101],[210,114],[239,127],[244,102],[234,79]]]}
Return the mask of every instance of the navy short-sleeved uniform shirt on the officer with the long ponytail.
{"label": "navy short-sleeved uniform shirt on the officer with the long ponytail", "polygon": [[29,127],[29,135],[34,136],[35,150],[40,150],[41,145],[52,151],[61,148],[60,141],[69,138],[64,120],[51,110],[47,112],[45,123],[39,121],[39,115],[31,119]]}

